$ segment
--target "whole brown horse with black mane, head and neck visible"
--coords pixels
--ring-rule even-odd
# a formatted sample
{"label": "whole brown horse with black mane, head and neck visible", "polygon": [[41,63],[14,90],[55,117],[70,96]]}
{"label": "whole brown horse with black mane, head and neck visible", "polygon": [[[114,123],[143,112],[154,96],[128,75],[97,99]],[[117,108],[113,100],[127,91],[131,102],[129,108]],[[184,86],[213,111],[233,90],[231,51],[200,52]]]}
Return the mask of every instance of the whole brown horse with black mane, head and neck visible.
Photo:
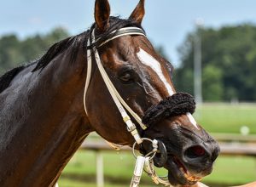
{"label": "whole brown horse with black mane, head and neck visible", "polygon": [[[144,1],[128,20],[109,15],[108,0],[96,0],[90,31],[55,43],[41,59],[0,78],[0,186],[53,186],[93,131],[114,144],[131,146],[136,139],[144,154],[152,148],[141,137],[157,139],[154,164],[169,171],[171,184],[195,184],[212,172],[218,144],[195,122],[194,99],[176,93],[172,65],[145,37]],[[122,119],[99,61],[131,109],[121,114],[133,113],[131,119]]]}

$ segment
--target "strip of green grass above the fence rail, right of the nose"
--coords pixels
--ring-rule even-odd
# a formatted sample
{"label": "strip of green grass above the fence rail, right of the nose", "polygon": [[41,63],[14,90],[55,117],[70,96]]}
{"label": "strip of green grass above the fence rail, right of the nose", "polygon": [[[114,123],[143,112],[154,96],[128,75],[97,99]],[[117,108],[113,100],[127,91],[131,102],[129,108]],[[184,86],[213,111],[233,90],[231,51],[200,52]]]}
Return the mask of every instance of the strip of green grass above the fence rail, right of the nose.
{"label": "strip of green grass above the fence rail, right of the nose", "polygon": [[256,133],[256,104],[204,104],[194,116],[211,133],[240,133],[242,126]]}

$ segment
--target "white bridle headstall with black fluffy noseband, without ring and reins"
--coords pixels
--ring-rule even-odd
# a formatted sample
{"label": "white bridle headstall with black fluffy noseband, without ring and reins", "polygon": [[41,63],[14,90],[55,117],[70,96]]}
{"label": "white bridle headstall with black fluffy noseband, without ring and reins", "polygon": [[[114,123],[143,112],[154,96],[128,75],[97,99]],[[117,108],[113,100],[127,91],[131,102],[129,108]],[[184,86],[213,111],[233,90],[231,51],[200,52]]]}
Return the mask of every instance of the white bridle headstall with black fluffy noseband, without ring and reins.
{"label": "white bridle headstall with black fluffy noseband, without ring and reins", "polygon": [[[87,76],[84,86],[84,110],[87,112],[86,109],[86,93],[90,84],[90,77],[91,77],[91,65],[92,65],[92,56],[94,56],[96,60],[96,65],[102,75],[102,79],[105,82],[111,97],[117,106],[120,115],[123,117],[123,121],[127,126],[127,130],[131,133],[131,135],[136,140],[137,144],[142,144],[143,139],[140,137],[138,133],[136,125],[131,122],[131,117],[127,114],[126,111],[136,120],[137,124],[142,128],[142,130],[146,130],[147,127],[150,127],[152,123],[155,123],[163,118],[168,116],[180,116],[187,112],[193,114],[195,111],[195,99],[192,95],[186,93],[176,93],[172,94],[171,96],[162,99],[158,105],[151,106],[147,111],[145,111],[143,119],[137,115],[135,111],[133,111],[129,105],[126,104],[125,100],[119,95],[119,92],[114,87],[113,83],[111,82],[110,78],[108,77],[107,72],[105,71],[102,61],[100,59],[100,55],[96,48],[96,43],[98,48],[102,45],[106,44],[107,42],[112,41],[117,37],[123,36],[143,36],[146,37],[144,31],[138,27],[125,27],[119,30],[115,30],[110,33],[110,36],[105,41],[101,42],[101,37],[97,40],[95,39],[95,29],[91,31],[90,37],[87,42]],[[125,111],[126,110],[126,111]]]}

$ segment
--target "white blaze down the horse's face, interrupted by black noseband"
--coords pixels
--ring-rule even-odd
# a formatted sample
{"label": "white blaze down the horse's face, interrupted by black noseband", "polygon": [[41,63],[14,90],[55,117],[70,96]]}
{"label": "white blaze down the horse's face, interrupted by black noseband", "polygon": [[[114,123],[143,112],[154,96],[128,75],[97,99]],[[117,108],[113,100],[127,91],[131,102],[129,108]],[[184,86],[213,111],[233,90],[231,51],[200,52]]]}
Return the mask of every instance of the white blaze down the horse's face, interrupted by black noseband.
{"label": "white blaze down the horse's face, interrupted by black noseband", "polygon": [[[175,92],[172,89],[172,86],[169,84],[169,82],[167,82],[166,77],[163,74],[163,71],[161,69],[161,65],[159,63],[159,61],[157,61],[156,59],[154,59],[153,56],[151,56],[150,54],[148,54],[146,51],[144,51],[142,48],[140,48],[140,51],[137,53],[137,57],[138,59],[140,59],[140,61],[144,64],[144,65],[148,65],[156,74],[157,76],[160,78],[160,80],[164,83],[164,85],[166,86],[166,89],[168,91],[168,94],[170,96],[172,96],[173,94],[175,94]],[[195,122],[195,118],[188,112],[187,116],[189,117],[189,121],[196,127],[197,127],[197,123]]]}

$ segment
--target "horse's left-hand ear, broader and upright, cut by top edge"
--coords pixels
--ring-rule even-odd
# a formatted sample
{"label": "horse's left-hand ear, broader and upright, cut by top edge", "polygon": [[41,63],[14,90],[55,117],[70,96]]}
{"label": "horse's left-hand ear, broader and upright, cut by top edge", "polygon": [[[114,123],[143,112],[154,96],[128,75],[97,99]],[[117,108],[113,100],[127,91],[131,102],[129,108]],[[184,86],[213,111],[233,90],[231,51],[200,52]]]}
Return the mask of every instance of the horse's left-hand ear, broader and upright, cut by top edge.
{"label": "horse's left-hand ear, broader and upright, cut by top edge", "polygon": [[108,0],[96,0],[94,17],[100,31],[106,31],[109,26],[110,6]]}

